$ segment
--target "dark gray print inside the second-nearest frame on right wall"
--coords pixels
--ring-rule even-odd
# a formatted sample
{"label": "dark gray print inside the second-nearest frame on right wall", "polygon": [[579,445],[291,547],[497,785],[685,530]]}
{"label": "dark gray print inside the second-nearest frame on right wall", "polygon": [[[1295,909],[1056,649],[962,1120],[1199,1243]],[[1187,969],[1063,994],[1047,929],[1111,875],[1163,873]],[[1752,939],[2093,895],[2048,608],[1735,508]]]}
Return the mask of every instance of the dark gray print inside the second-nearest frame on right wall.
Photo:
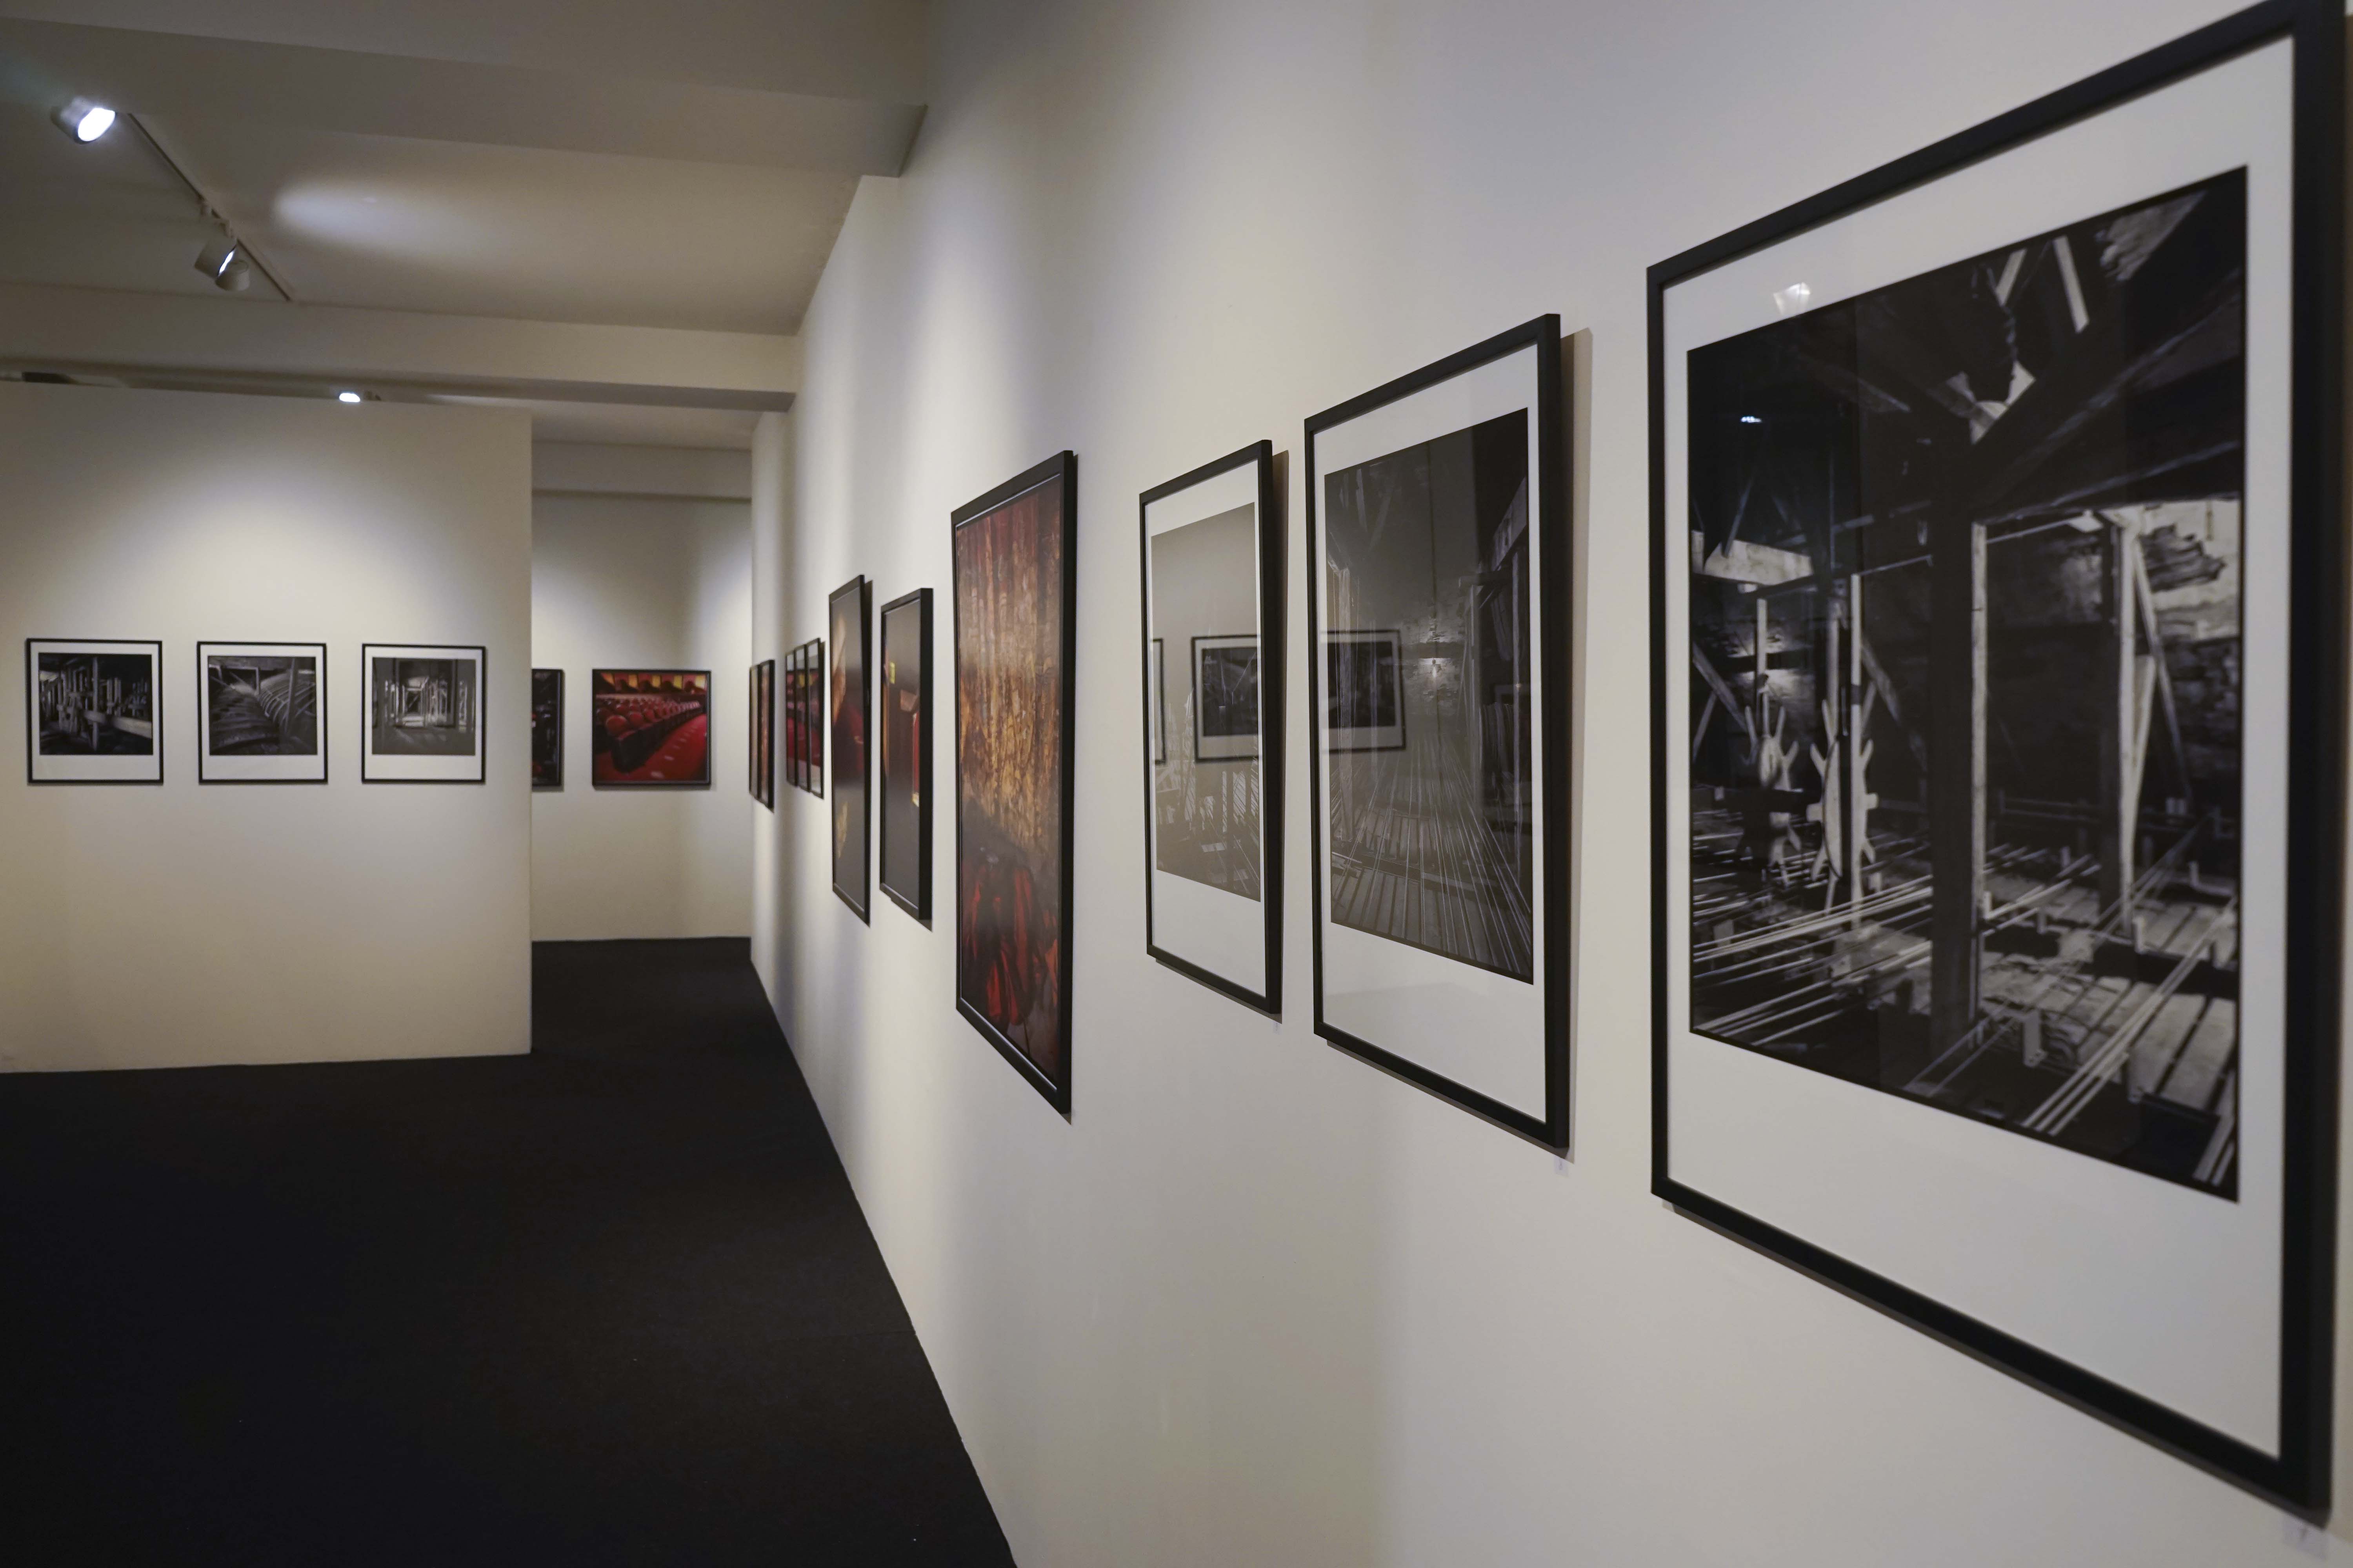
{"label": "dark gray print inside the second-nearest frame on right wall", "polygon": [[1329,919],[1534,980],[1527,411],[1325,477]]}

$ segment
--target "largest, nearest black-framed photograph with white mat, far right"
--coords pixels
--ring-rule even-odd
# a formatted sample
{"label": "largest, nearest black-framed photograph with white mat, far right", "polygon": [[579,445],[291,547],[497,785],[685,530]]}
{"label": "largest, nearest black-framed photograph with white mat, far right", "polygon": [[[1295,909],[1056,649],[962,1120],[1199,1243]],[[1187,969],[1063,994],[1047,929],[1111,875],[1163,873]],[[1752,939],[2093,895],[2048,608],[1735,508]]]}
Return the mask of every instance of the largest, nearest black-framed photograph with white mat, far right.
{"label": "largest, nearest black-framed photograph with white mat, far right", "polygon": [[2327,1500],[2337,0],[1649,273],[1654,1187]]}

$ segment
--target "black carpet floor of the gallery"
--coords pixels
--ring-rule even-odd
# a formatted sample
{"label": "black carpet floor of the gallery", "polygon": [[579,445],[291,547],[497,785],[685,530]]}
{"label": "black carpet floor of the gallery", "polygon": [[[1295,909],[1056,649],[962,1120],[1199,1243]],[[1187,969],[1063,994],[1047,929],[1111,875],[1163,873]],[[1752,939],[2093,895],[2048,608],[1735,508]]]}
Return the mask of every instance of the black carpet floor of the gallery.
{"label": "black carpet floor of the gallery", "polygon": [[0,1561],[1012,1561],[746,943],[534,1018],[0,1079]]}

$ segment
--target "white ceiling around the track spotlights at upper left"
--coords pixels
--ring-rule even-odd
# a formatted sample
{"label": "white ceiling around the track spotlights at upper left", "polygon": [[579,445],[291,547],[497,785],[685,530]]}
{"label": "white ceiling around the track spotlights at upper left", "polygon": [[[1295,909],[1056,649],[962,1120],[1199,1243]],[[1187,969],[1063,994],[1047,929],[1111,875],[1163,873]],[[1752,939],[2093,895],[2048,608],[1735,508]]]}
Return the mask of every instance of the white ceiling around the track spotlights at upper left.
{"label": "white ceiling around the track spotlights at upper left", "polygon": [[[798,334],[922,120],[922,0],[0,0],[0,287],[219,299],[186,174],[294,308]],[[71,92],[136,122],[73,146]],[[753,418],[536,407],[544,440]]]}

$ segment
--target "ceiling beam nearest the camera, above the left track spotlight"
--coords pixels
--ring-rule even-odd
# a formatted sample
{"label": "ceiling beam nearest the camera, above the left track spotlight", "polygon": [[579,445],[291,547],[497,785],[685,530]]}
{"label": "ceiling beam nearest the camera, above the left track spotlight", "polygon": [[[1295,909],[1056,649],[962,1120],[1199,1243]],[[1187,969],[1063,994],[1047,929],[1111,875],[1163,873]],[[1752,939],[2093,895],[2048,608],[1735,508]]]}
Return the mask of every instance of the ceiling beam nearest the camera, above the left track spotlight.
{"label": "ceiling beam nearest the camera, above the left track spotlight", "polygon": [[160,120],[899,174],[915,103],[0,19],[0,94]]}

